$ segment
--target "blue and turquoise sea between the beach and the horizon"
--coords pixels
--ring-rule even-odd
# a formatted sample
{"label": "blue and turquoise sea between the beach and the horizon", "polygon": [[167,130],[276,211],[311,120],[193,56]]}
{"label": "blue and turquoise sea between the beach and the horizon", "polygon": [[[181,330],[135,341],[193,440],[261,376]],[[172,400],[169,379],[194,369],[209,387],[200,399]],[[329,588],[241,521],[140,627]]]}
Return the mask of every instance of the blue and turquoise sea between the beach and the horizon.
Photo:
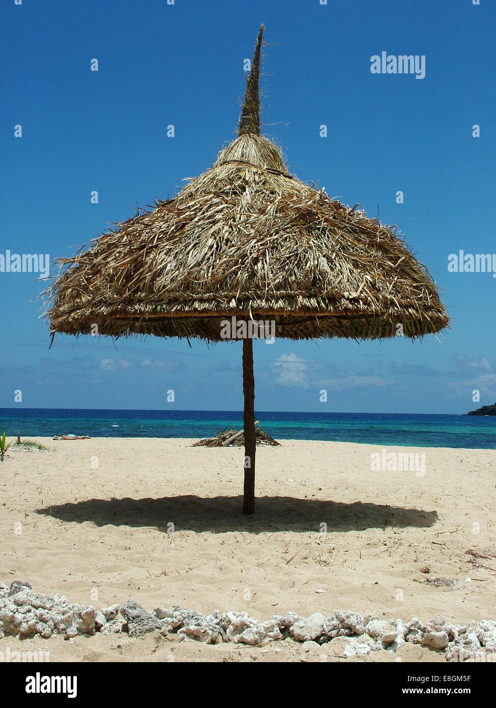
{"label": "blue and turquoise sea between the beach and the horizon", "polygon": [[[371,445],[496,450],[496,417],[412,413],[278,413],[257,411],[276,440],[337,440]],[[209,438],[241,428],[240,411],[100,411],[0,409],[0,434],[90,435],[92,438]]]}

